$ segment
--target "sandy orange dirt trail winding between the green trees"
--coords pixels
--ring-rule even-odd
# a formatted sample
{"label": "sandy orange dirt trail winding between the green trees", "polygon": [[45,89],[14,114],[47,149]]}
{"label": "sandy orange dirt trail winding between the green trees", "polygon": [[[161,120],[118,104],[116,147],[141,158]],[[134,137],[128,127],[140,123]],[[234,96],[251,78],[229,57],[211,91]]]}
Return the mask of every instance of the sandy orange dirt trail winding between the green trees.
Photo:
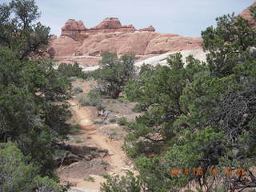
{"label": "sandy orange dirt trail winding between the green trees", "polygon": [[[77,119],[78,125],[81,126],[81,135],[90,135],[91,146],[97,146],[98,148],[106,149],[109,151],[109,155],[104,158],[106,162],[110,164],[110,169],[107,170],[108,174],[123,174],[126,170],[131,170],[129,166],[129,160],[126,154],[122,151],[123,141],[115,141],[100,134],[100,125],[94,124],[94,112],[88,107],[79,106],[75,100],[70,101],[70,106],[74,111],[74,118]],[[77,183],[76,187],[81,189],[99,190],[100,182],[104,182],[105,179],[101,176],[94,175],[95,182],[86,182],[84,179],[77,178],[62,178],[69,182]]]}

